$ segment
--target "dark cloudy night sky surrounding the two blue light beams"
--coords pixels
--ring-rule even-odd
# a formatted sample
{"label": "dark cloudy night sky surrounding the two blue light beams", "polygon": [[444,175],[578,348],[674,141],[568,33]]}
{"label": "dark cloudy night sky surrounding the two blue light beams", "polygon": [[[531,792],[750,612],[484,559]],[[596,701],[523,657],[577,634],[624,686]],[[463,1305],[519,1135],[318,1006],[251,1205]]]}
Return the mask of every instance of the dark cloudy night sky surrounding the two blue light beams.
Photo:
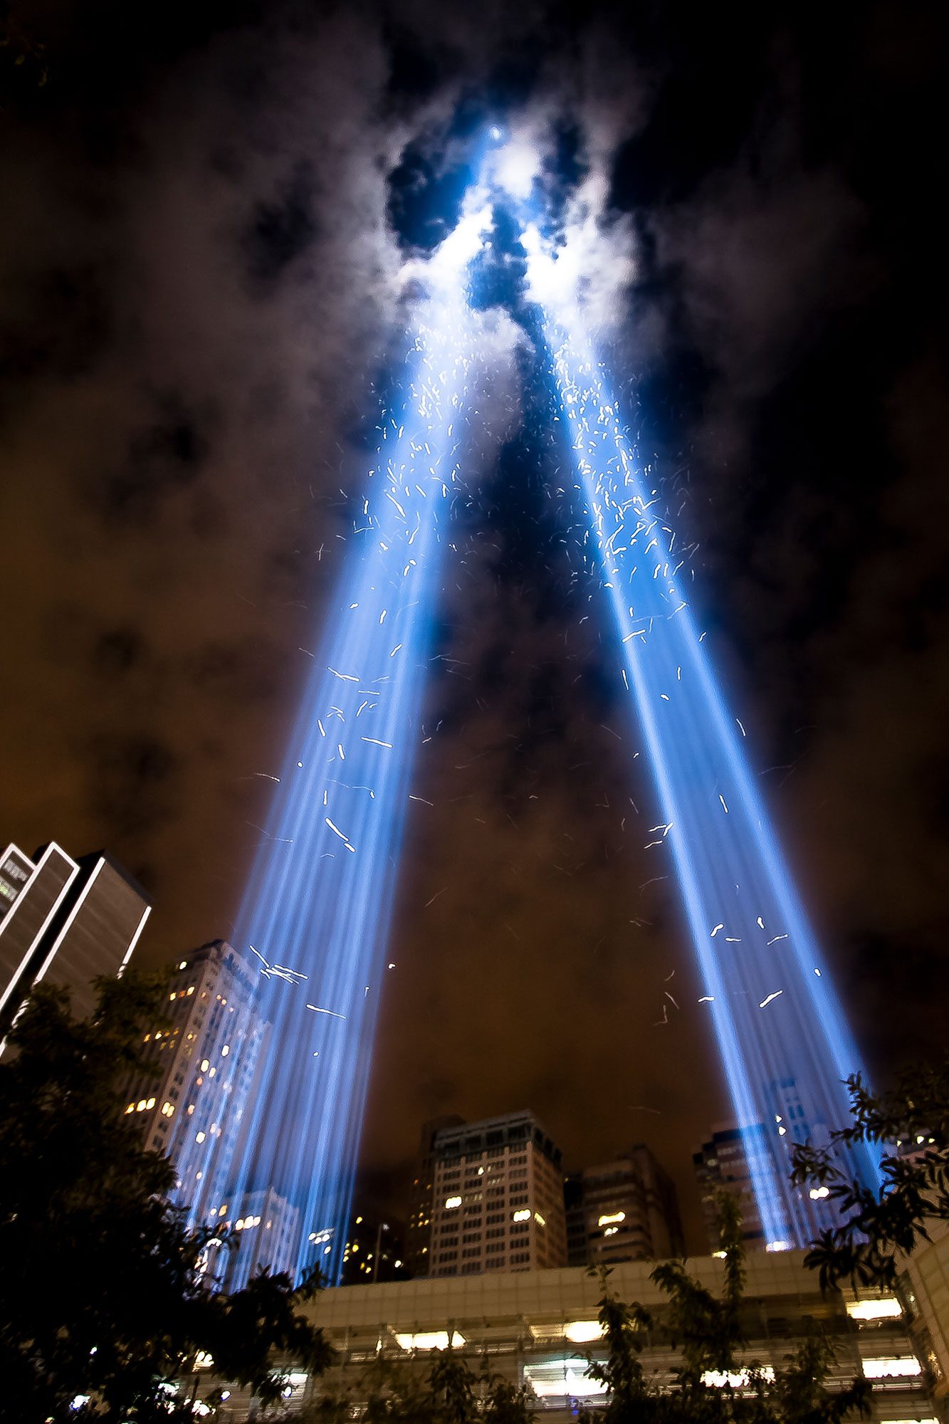
{"label": "dark cloudy night sky surrounding the two blue light beams", "polygon": [[[600,352],[698,541],[693,607],[865,1059],[940,1052],[939,10],[0,7],[4,843],[107,846],[154,896],[142,964],[231,934],[398,375],[400,268],[499,121],[546,155],[566,236],[586,212]],[[698,1249],[690,1152],[728,1109],[512,251],[479,288],[496,372],[365,1192],[405,1206],[423,1118],[530,1106],[569,1166],[648,1142]]]}

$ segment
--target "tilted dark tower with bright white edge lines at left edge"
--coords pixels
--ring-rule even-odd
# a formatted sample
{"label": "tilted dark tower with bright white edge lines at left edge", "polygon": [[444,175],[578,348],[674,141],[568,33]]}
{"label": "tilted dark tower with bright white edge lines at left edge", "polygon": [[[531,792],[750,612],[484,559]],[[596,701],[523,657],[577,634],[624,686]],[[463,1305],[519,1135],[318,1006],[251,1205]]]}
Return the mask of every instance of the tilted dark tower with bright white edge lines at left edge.
{"label": "tilted dark tower with bright white edge lines at left edge", "polygon": [[137,880],[104,850],[74,860],[51,842],[0,859],[0,1040],[40,980],[70,990],[73,1012],[95,1007],[93,980],[120,974],[151,911]]}

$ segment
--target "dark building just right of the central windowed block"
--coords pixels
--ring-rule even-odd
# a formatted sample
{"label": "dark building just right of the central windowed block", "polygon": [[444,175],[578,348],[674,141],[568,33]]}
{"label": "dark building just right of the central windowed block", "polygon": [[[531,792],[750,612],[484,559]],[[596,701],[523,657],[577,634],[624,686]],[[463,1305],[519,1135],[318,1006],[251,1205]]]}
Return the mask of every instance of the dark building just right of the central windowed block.
{"label": "dark building just right of the central windowed block", "polygon": [[675,1188],[643,1143],[569,1178],[564,1205],[570,1266],[684,1255]]}

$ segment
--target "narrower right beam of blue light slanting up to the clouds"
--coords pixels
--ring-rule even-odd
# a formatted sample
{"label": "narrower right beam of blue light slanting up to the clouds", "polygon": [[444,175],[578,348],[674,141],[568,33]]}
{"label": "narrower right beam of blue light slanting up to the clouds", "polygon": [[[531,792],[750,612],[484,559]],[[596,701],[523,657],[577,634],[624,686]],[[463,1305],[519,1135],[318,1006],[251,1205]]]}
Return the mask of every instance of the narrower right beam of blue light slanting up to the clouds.
{"label": "narrower right beam of blue light slanting up to the clouds", "polygon": [[[844,1014],[684,592],[687,554],[623,429],[576,318],[541,319],[550,372],[658,800],[651,854],[671,853],[765,1245],[804,1246],[832,1203],[789,1183],[791,1146],[849,1121],[861,1067]],[[842,1162],[879,1188],[879,1155]]]}

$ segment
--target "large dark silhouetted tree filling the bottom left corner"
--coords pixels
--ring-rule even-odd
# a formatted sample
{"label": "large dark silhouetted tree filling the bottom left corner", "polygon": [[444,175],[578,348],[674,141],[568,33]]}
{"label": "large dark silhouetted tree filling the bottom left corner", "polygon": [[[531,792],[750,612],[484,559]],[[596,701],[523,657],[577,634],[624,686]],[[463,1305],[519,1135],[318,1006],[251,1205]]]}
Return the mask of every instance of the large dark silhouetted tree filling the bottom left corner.
{"label": "large dark silhouetted tree filling the bottom left corner", "polygon": [[197,1380],[201,1354],[271,1401],[285,1383],[275,1354],[312,1371],[332,1354],[298,1309],[313,1282],[208,1287],[209,1233],[187,1227],[168,1200],[174,1166],[124,1115],[161,997],[135,973],[101,980],[78,1021],[64,990],[40,984],[0,1061],[0,1418],[167,1421],[170,1387]]}

